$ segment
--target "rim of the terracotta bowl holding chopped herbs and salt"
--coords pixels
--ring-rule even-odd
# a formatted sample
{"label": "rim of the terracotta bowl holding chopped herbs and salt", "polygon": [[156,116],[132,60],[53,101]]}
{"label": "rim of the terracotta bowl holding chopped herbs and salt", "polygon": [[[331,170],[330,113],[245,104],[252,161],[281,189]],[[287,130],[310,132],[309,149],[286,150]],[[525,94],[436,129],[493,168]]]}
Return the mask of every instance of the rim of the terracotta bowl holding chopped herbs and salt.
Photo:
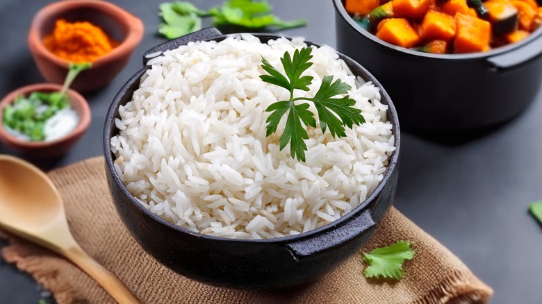
{"label": "rim of the terracotta bowl holding chopped herbs and salt", "polygon": [[[64,144],[65,142],[69,142],[71,140],[74,140],[74,138],[80,137],[83,135],[86,130],[90,127],[90,121],[92,120],[92,115],[90,112],[90,107],[88,105],[87,100],[85,97],[83,97],[81,94],[74,90],[67,90],[67,94],[69,96],[69,105],[72,106],[73,104],[78,104],[79,108],[74,108],[72,106],[72,109],[77,112],[77,115],[79,115],[79,123],[77,124],[76,128],[72,130],[72,132],[68,133],[64,137],[59,138],[58,140],[54,140],[52,142],[30,142],[26,140],[19,140],[19,138],[10,135],[9,133],[4,130],[3,127],[3,109],[6,107],[6,105],[13,103],[15,101],[15,98],[20,95],[27,95],[31,92],[36,91],[43,91],[43,92],[52,92],[52,91],[60,91],[62,90],[62,85],[57,85],[56,83],[36,83],[33,85],[25,85],[24,87],[19,87],[16,90],[11,91],[8,93],[3,99],[0,101],[0,140],[3,142],[8,142],[12,144],[13,146],[17,146],[19,149],[38,149],[38,148],[45,148],[49,146],[56,146],[57,144]],[[80,109],[80,110],[78,110]]]}

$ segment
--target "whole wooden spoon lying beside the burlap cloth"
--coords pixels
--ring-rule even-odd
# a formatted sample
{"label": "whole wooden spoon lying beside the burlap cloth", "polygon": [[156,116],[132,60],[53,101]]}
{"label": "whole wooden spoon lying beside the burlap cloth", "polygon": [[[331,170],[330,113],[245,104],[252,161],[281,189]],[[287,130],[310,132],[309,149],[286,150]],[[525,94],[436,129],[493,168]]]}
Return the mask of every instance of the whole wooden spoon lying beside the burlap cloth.
{"label": "whole wooden spoon lying beside the burlap cloth", "polygon": [[69,232],[62,198],[47,175],[8,155],[0,155],[0,227],[63,255],[118,303],[140,303],[113,273],[77,244]]}

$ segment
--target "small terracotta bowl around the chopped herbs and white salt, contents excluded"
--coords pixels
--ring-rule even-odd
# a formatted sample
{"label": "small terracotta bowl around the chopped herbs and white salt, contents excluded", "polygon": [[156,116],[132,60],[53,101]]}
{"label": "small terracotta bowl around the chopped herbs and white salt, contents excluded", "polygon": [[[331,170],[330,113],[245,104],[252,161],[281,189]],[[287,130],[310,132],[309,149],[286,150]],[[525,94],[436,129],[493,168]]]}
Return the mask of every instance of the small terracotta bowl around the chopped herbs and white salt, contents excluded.
{"label": "small terracotta bowl around the chopped herbs and white salt, contents excluded", "polygon": [[72,146],[74,146],[74,144],[81,139],[83,134],[85,134],[86,130],[88,130],[91,119],[87,100],[74,90],[68,90],[67,94],[72,109],[77,112],[77,115],[79,116],[79,124],[77,124],[76,128],[65,137],[53,142],[28,142],[26,140],[19,140],[17,137],[10,135],[3,128],[3,108],[8,104],[13,103],[17,96],[28,96],[28,94],[36,91],[54,92],[60,90],[62,90],[61,85],[55,83],[39,83],[20,87],[4,97],[0,101],[0,141],[14,150],[33,157],[60,156],[69,151],[69,149],[72,149]]}

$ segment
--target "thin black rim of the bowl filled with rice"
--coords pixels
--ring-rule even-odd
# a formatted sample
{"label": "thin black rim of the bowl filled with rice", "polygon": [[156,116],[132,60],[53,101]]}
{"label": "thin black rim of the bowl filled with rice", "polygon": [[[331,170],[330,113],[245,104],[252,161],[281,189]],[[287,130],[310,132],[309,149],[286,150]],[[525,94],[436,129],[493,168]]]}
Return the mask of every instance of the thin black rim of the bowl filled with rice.
{"label": "thin black rim of the bowl filled with rice", "polygon": [[[286,35],[276,35],[276,34],[270,34],[270,33],[249,33],[250,35],[254,35],[258,37],[260,40],[261,38],[264,39],[277,39],[280,37],[286,37],[288,40],[292,40],[292,37],[288,37]],[[243,33],[234,33],[234,34],[227,34],[227,35],[217,35],[215,37],[211,37],[208,39],[202,39],[198,41],[211,41],[211,40],[224,40],[227,37],[236,36],[236,35],[243,35]],[[171,40],[174,41],[174,40]],[[263,42],[265,43],[265,42]],[[320,44],[315,44],[313,42],[309,42],[307,40],[304,41],[309,46],[314,47],[320,47]],[[164,44],[167,44],[165,42]],[[126,83],[122,86],[120,91],[117,93],[115,98],[113,99],[113,102],[110,105],[110,108],[108,110],[107,116],[106,116],[106,123],[104,124],[104,156],[106,159],[106,169],[108,171],[108,174],[113,177],[113,183],[119,187],[122,194],[126,196],[127,199],[129,199],[130,203],[136,206],[138,210],[149,216],[151,219],[154,219],[154,221],[157,221],[158,223],[161,223],[164,226],[167,226],[168,228],[172,228],[173,230],[179,231],[179,233],[183,233],[186,235],[191,235],[192,237],[199,237],[200,239],[207,239],[213,242],[233,242],[233,243],[239,243],[239,244],[286,244],[286,243],[293,243],[297,242],[302,239],[311,238],[314,235],[320,234],[324,230],[331,230],[335,226],[343,226],[341,225],[345,221],[350,221],[352,217],[354,217],[354,214],[361,214],[364,210],[366,210],[370,203],[375,201],[377,199],[377,196],[381,194],[384,187],[386,187],[387,183],[390,181],[392,175],[394,174],[395,170],[397,170],[397,165],[399,161],[399,155],[400,155],[400,125],[399,125],[399,119],[397,117],[397,111],[395,110],[395,105],[393,105],[393,102],[391,101],[391,97],[388,95],[384,87],[377,81],[377,78],[370,74],[370,72],[363,67],[361,64],[353,60],[352,58],[344,55],[343,53],[340,53],[339,51],[334,51],[338,54],[339,58],[344,60],[347,66],[355,66],[359,68],[364,73],[366,77],[363,77],[362,75],[356,75],[361,76],[363,80],[369,82],[371,81],[376,87],[379,87],[381,99],[380,100],[386,100],[388,104],[388,110],[386,113],[391,115],[391,124],[392,124],[392,130],[393,130],[393,136],[394,136],[394,146],[395,151],[393,151],[391,158],[388,160],[389,164],[386,169],[386,174],[384,174],[382,180],[380,181],[379,185],[373,190],[373,192],[368,196],[363,202],[361,202],[356,208],[350,210],[347,214],[345,214],[343,217],[340,217],[336,219],[335,221],[332,221],[331,223],[327,223],[326,225],[315,228],[313,230],[309,230],[305,233],[299,233],[297,235],[286,235],[284,237],[274,237],[274,238],[268,238],[268,239],[229,239],[226,237],[217,237],[214,235],[206,235],[203,233],[196,233],[192,230],[188,230],[187,228],[183,228],[181,226],[177,226],[174,223],[170,223],[169,221],[166,221],[165,219],[162,219],[157,214],[154,214],[147,208],[145,208],[139,201],[136,199],[124,186],[122,181],[120,180],[117,171],[114,167],[114,161],[113,161],[113,153],[110,151],[110,140],[111,140],[111,130],[116,128],[115,126],[115,111],[117,111],[118,108],[120,108],[120,99],[124,92],[128,90],[128,88],[133,85],[136,81],[140,81],[140,78],[145,74],[145,71],[149,69],[149,65],[145,65],[145,67],[142,67],[139,71],[136,72],[136,74],[133,74],[133,76],[129,79],[129,81],[126,81]],[[162,56],[163,54],[160,54],[159,56]],[[386,115],[387,116],[387,115]]]}

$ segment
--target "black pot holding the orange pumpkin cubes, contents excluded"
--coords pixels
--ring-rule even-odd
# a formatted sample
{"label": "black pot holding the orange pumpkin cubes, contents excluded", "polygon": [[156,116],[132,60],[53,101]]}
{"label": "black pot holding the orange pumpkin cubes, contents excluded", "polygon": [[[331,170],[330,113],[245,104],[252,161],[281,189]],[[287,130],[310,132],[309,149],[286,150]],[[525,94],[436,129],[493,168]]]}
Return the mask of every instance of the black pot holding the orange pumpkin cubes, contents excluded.
{"label": "black pot holding the orange pumpkin cubes, contents excluded", "polygon": [[357,26],[343,0],[332,0],[338,51],[386,87],[404,130],[470,133],[520,114],[539,92],[542,28],[487,52],[432,54],[397,47]]}

